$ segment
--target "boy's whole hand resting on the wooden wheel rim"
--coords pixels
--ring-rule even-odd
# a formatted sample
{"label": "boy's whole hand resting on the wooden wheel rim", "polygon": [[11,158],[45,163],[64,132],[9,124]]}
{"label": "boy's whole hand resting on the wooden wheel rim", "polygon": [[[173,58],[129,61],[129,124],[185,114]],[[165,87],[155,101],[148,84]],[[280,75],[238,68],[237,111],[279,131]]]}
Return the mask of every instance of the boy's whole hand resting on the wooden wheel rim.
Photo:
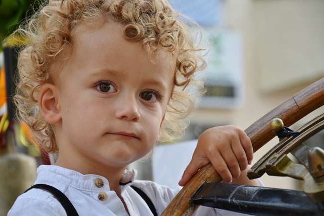
{"label": "boy's whole hand resting on the wooden wheel rim", "polygon": [[231,183],[252,163],[252,159],[251,140],[242,129],[232,125],[210,128],[200,135],[192,159],[178,184],[184,186],[209,162],[224,182]]}

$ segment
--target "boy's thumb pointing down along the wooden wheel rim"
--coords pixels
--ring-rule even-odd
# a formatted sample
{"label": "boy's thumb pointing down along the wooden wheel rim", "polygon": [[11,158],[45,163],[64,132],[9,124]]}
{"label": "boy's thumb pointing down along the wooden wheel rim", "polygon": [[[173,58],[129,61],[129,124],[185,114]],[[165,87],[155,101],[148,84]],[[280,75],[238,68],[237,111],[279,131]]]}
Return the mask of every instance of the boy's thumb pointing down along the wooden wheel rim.
{"label": "boy's thumb pointing down along the wooden wheel rim", "polygon": [[184,186],[198,172],[198,170],[200,170],[203,166],[209,164],[209,162],[210,161],[208,158],[199,158],[194,153],[189,165],[184,170],[178,185]]}

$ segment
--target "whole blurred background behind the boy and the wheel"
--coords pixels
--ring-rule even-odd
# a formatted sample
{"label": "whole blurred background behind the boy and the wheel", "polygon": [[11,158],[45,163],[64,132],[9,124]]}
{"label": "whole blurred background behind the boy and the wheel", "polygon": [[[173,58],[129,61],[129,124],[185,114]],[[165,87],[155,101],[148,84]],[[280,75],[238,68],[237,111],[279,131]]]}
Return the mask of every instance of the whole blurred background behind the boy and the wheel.
{"label": "whole blurred background behind the boy and the wheel", "polygon": [[[1,41],[16,28],[15,23],[30,15],[32,2],[0,0]],[[129,169],[139,170],[138,179],[175,188],[190,161],[196,139],[204,130],[228,124],[246,129],[324,77],[324,1],[170,0],[170,3],[196,20],[212,42],[209,66],[203,75],[208,80],[207,94],[179,143],[158,144],[152,157],[133,163]],[[0,99],[3,99],[0,101],[0,216],[6,215],[15,198],[33,184],[36,167],[50,163],[48,158],[41,158],[24,126],[12,119],[9,99],[14,88],[12,80],[6,84],[6,93],[1,93],[3,65],[7,62],[3,57],[5,52],[11,56],[7,65],[12,64],[6,70],[13,74],[15,68],[15,49],[11,45],[2,43],[4,51],[0,53]],[[290,128],[296,130],[323,112],[322,107]],[[274,138],[256,152],[253,163],[278,141]],[[306,144],[324,148],[324,133],[318,133]],[[288,177],[265,174],[261,180],[266,187],[302,189],[300,181]]]}

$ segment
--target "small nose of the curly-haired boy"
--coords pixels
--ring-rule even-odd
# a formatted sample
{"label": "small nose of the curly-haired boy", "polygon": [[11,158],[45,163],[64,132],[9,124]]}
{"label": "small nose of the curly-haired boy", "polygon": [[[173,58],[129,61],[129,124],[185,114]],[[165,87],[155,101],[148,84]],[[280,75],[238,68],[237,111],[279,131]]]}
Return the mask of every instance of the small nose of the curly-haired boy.
{"label": "small nose of the curly-haired boy", "polygon": [[140,121],[140,105],[137,98],[133,95],[120,95],[115,116],[118,119]]}

